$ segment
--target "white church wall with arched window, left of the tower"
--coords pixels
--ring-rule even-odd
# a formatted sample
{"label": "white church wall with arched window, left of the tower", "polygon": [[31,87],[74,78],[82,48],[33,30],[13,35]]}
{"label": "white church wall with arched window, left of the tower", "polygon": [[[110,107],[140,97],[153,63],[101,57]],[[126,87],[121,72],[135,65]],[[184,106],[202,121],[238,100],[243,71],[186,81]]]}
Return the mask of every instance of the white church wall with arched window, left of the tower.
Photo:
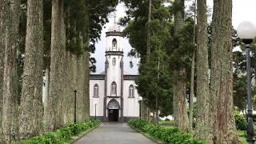
{"label": "white church wall with arched window, left of the tower", "polygon": [[[104,106],[104,80],[90,80],[90,116],[95,115],[95,103],[96,105],[96,115],[103,116],[103,106]],[[94,98],[94,85],[98,84],[98,96],[99,98]]]}

